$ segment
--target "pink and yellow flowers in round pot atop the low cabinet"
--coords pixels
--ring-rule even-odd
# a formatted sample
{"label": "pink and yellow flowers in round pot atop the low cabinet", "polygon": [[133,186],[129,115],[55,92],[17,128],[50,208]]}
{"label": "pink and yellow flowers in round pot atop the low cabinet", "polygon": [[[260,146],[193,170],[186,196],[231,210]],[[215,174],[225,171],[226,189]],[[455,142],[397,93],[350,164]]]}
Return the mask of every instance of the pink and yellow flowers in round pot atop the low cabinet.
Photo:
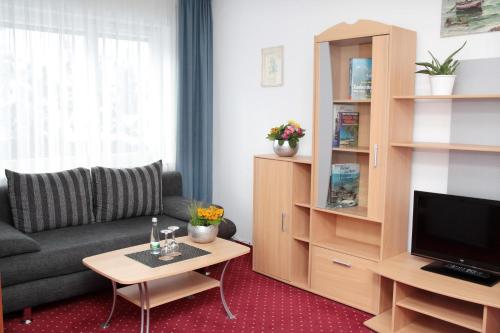
{"label": "pink and yellow flowers in round pot atop the low cabinet", "polygon": [[288,123],[271,128],[267,134],[267,139],[273,141],[273,150],[281,157],[291,157],[299,150],[299,140],[305,135],[305,129],[294,120]]}

